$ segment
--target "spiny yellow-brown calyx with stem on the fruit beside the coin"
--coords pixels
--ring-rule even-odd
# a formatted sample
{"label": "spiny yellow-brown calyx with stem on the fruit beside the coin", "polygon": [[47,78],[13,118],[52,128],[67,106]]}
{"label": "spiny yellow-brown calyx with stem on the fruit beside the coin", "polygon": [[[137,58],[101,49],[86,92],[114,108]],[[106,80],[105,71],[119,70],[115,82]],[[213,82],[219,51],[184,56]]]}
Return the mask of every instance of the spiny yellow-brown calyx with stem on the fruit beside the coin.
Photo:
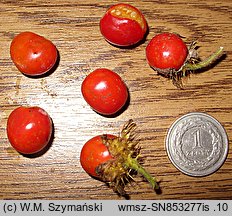
{"label": "spiny yellow-brown calyx with stem on the fruit beside the coin", "polygon": [[118,137],[109,139],[107,135],[102,136],[103,143],[113,159],[100,164],[96,172],[102,181],[122,196],[126,195],[126,183],[130,183],[133,180],[132,175],[136,173],[143,175],[153,189],[159,188],[156,179],[139,164],[140,148],[135,141],[135,129],[136,124],[129,120]]}

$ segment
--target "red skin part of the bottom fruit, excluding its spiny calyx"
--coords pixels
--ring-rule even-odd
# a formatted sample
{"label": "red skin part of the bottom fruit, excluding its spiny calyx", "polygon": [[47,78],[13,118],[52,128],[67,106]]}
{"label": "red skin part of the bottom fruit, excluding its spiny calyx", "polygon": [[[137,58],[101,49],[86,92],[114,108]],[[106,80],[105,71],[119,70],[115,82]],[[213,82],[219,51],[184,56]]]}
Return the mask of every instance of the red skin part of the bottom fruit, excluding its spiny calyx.
{"label": "red skin part of the bottom fruit, excluding its spiny calyx", "polygon": [[[107,135],[108,138],[115,138],[114,135]],[[99,177],[96,169],[100,164],[103,164],[112,159],[108,148],[103,144],[102,136],[98,135],[91,138],[85,143],[81,150],[80,162],[81,166],[89,175]]]}

